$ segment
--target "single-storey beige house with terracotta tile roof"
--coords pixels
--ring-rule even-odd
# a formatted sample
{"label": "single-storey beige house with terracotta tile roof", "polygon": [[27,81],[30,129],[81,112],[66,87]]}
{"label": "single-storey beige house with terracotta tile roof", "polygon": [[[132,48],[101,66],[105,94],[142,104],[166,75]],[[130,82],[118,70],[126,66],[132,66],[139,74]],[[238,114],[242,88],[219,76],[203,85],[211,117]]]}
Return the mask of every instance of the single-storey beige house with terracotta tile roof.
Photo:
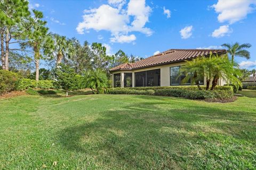
{"label": "single-storey beige house with terracotta tile roof", "polygon": [[[213,54],[226,54],[225,49],[169,49],[135,63],[124,63],[110,69],[113,87],[146,87],[146,86],[179,86],[185,76],[178,78],[180,66],[186,60],[197,56]],[[206,85],[206,78],[199,81]],[[226,82],[218,81],[222,86]]]}

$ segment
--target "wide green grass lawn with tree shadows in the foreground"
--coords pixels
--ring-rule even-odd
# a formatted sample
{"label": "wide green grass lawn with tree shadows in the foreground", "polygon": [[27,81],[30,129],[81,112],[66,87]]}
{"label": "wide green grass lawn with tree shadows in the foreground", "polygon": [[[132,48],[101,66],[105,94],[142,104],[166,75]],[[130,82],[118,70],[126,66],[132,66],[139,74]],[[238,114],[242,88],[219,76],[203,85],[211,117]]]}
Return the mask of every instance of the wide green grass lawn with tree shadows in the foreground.
{"label": "wide green grass lawn with tree shadows in the foreground", "polygon": [[256,98],[26,95],[0,108],[0,169],[256,167]]}

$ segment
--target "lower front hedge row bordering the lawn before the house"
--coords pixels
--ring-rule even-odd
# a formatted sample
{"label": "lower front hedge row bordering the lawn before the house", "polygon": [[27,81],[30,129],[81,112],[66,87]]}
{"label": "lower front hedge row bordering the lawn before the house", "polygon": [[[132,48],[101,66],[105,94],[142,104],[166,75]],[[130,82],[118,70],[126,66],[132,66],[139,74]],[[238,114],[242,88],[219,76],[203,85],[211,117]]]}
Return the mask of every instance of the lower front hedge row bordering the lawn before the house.
{"label": "lower front hedge row bordering the lawn before the house", "polygon": [[[231,86],[229,86],[231,87]],[[106,89],[106,94],[126,94],[126,95],[156,95],[173,96],[188,99],[227,99],[234,96],[233,88],[223,88],[225,90],[190,90],[189,88],[166,88],[166,89],[139,89],[138,88],[110,88]]]}

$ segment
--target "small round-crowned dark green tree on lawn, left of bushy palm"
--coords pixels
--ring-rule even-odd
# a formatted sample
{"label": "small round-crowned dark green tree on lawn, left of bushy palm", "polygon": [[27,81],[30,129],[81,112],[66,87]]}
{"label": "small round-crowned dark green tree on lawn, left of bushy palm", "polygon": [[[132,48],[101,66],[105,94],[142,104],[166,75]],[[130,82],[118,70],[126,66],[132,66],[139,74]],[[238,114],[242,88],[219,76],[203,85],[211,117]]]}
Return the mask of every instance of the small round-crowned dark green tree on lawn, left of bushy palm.
{"label": "small round-crowned dark green tree on lawn, left of bushy palm", "polygon": [[53,71],[54,78],[57,81],[59,88],[66,91],[66,97],[69,90],[76,89],[76,73],[73,68],[63,63],[60,63]]}

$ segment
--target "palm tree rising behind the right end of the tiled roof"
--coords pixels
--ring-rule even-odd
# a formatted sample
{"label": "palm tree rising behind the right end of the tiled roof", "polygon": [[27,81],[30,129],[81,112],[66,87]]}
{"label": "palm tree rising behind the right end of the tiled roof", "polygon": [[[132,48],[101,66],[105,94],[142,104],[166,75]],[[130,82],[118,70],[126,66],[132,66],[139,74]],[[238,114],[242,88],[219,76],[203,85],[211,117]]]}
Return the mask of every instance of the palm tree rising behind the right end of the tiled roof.
{"label": "palm tree rising behind the right end of the tiled roof", "polygon": [[222,44],[221,46],[227,48],[227,53],[231,56],[232,64],[234,64],[234,58],[236,56],[244,57],[247,60],[250,59],[250,52],[246,50],[246,48],[250,48],[252,46],[249,43],[241,44],[241,45],[239,45],[239,43],[235,43],[235,44],[225,43],[225,44]]}

